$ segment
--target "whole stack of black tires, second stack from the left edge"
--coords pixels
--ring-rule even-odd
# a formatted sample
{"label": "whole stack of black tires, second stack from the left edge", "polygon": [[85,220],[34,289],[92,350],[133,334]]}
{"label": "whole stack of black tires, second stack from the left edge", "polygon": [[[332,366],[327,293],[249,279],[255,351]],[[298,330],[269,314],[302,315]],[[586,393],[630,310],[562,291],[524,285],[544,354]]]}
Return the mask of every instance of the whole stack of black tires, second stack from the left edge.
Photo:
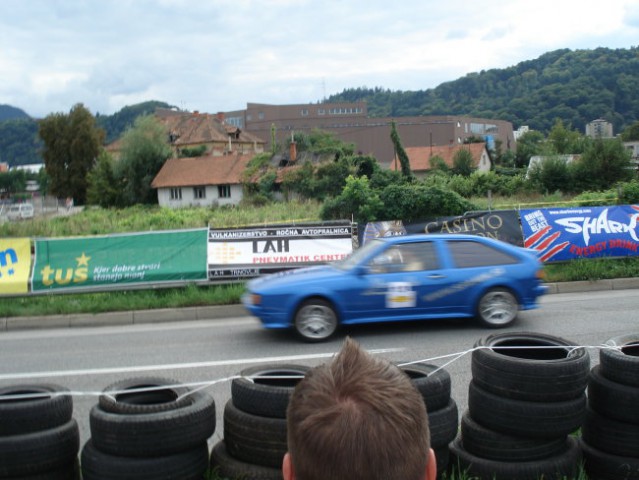
{"label": "whole stack of black tires, second stack from the left edge", "polygon": [[203,480],[215,421],[215,402],[204,391],[157,377],[116,382],[91,409],[82,478]]}

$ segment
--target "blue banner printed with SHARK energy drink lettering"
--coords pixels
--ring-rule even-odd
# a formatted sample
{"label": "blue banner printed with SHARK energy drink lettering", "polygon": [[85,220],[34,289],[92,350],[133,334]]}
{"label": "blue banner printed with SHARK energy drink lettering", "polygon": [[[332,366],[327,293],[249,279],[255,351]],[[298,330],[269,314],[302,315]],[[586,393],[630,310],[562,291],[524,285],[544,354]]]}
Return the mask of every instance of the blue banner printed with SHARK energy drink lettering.
{"label": "blue banner printed with SHARK energy drink lettering", "polygon": [[639,254],[639,205],[521,210],[524,246],[543,262]]}

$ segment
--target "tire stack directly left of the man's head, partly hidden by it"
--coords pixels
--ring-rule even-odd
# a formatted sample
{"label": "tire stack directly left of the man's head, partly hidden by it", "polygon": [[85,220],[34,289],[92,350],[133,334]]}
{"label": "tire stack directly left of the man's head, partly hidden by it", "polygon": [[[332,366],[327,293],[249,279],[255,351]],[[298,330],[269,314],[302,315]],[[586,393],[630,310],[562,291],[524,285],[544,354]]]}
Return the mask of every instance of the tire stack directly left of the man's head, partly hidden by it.
{"label": "tire stack directly left of the man's head, partly hidden by it", "polygon": [[224,407],[224,440],[211,451],[211,469],[223,478],[281,480],[287,451],[286,409],[309,367],[251,367],[231,382]]}

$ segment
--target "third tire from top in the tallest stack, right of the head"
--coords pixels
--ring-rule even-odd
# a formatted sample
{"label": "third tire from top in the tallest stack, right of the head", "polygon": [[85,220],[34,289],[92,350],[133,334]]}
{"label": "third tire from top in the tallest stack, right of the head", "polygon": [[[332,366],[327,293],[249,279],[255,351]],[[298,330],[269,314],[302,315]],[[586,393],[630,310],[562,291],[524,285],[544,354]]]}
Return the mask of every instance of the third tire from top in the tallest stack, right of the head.
{"label": "third tire from top in the tallest stack, right of the head", "polygon": [[535,439],[499,433],[477,423],[468,411],[462,415],[461,438],[468,453],[498,462],[532,462],[566,450],[565,436]]}

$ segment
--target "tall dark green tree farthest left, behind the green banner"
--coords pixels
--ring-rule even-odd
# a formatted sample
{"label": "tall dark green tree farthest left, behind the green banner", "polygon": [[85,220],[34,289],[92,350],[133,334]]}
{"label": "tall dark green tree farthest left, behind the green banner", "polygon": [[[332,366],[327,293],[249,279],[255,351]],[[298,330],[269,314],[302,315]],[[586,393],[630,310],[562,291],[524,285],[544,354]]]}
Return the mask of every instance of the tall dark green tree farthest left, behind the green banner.
{"label": "tall dark green tree farthest left, behind the green banner", "polygon": [[86,202],[87,174],[93,168],[104,142],[104,131],[81,103],[68,114],[54,113],[39,123],[44,143],[42,156],[49,176],[49,191]]}

